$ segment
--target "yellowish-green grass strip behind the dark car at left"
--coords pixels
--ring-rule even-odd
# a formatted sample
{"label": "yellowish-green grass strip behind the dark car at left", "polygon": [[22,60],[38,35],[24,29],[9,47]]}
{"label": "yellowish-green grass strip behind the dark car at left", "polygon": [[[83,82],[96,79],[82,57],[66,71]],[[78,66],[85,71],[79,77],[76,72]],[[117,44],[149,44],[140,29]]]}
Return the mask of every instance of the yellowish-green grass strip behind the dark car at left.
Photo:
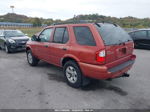
{"label": "yellowish-green grass strip behind the dark car at left", "polygon": [[17,30],[21,30],[24,34],[27,34],[29,37],[32,37],[34,34],[40,32],[42,30],[41,27],[36,27],[36,28],[13,28],[13,27],[9,27],[9,28],[0,28],[0,29],[17,29]]}

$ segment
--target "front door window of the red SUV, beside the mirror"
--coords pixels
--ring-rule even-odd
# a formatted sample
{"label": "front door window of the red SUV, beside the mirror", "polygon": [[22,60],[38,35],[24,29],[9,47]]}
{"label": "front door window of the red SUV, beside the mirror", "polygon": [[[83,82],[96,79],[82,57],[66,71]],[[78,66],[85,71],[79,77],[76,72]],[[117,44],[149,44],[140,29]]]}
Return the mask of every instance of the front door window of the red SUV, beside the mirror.
{"label": "front door window of the red SUV, beside the mirror", "polygon": [[45,29],[40,35],[40,41],[41,42],[49,42],[50,41],[50,37],[52,34],[53,28],[49,28],[49,29]]}

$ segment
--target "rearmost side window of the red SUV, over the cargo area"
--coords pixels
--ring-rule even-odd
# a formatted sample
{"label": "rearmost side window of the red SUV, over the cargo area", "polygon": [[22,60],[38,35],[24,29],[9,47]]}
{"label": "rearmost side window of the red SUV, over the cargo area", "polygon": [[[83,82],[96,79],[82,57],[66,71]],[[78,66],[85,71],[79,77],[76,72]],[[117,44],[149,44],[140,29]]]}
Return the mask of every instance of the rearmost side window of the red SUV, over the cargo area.
{"label": "rearmost side window of the red SUV, over the cargo area", "polygon": [[80,45],[96,46],[94,37],[89,27],[74,27],[74,33],[76,36],[77,43]]}

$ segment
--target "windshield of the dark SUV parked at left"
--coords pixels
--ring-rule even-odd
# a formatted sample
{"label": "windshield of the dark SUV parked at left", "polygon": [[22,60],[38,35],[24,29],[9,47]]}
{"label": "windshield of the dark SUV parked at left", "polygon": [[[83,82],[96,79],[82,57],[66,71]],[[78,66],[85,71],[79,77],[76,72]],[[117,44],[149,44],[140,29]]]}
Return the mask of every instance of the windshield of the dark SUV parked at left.
{"label": "windshield of the dark SUV parked at left", "polygon": [[10,30],[4,32],[5,37],[22,37],[25,36],[21,31],[19,30]]}

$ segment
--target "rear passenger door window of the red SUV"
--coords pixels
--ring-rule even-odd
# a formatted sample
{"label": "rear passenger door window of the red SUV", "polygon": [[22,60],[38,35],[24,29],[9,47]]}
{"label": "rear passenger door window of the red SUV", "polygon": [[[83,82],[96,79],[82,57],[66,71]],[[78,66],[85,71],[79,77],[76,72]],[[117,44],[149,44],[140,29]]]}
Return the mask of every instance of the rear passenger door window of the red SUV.
{"label": "rear passenger door window of the red SUV", "polygon": [[56,28],[54,34],[54,43],[67,43],[69,40],[69,35],[67,28]]}

